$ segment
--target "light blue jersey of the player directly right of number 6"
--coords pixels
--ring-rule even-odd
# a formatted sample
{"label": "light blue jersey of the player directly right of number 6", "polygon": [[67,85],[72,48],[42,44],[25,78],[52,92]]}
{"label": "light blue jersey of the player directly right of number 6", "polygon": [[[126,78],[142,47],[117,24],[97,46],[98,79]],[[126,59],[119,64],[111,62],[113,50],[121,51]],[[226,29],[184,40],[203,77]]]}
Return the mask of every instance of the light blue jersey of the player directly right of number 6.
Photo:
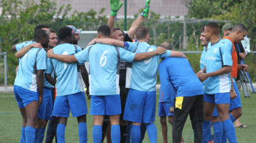
{"label": "light blue jersey of the player directly right of number 6", "polygon": [[[125,49],[137,53],[152,52],[157,49],[155,45],[146,42],[125,42]],[[127,67],[125,88],[132,88],[139,91],[155,91],[157,84],[157,67],[160,58],[170,57],[170,50],[162,55],[155,55],[147,60],[134,61],[132,67]]]}

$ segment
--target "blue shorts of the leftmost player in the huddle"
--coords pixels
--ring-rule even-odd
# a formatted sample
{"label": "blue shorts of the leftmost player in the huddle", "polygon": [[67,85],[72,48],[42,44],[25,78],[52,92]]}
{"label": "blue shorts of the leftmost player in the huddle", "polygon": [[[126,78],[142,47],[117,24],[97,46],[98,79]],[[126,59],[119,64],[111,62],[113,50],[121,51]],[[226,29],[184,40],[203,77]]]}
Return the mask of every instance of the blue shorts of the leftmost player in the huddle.
{"label": "blue shorts of the leftmost player in the huddle", "polygon": [[38,101],[37,92],[30,91],[29,89],[22,88],[20,86],[14,86],[13,92],[18,103],[19,108],[25,108],[32,101]]}

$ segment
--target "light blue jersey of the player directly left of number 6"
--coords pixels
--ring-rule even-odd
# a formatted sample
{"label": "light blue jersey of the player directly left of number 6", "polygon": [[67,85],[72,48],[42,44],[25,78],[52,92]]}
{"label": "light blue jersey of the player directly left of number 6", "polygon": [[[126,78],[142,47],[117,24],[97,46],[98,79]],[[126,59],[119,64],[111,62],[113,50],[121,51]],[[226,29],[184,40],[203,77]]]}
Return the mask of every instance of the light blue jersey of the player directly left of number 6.
{"label": "light blue jersey of the player directly left of number 6", "polygon": [[[77,47],[77,50],[76,48]],[[59,55],[74,55],[77,52],[80,52],[81,49],[77,45],[72,45],[70,43],[63,43],[61,45],[57,45],[53,48],[54,54]],[[56,90],[57,96],[65,96],[70,94],[75,94],[81,92],[79,87],[79,77],[78,77],[78,69],[77,63],[66,63],[61,62],[56,59],[47,59],[47,69],[46,73],[51,74],[53,69],[56,72]],[[84,63],[81,63],[81,65]]]}

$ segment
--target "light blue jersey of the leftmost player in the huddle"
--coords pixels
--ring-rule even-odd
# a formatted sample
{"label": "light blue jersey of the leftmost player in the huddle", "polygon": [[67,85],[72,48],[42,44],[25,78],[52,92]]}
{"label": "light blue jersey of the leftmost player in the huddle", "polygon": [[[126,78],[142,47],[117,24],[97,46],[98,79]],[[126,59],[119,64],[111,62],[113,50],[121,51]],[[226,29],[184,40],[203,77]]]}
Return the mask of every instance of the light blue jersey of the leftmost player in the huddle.
{"label": "light blue jersey of the leftmost player in the huddle", "polygon": [[[35,42],[23,42],[22,47]],[[18,47],[20,47],[20,45]],[[18,49],[19,50],[19,49]],[[46,51],[44,49],[32,48],[19,59],[18,73],[15,85],[30,91],[37,92],[37,70],[46,69]]]}

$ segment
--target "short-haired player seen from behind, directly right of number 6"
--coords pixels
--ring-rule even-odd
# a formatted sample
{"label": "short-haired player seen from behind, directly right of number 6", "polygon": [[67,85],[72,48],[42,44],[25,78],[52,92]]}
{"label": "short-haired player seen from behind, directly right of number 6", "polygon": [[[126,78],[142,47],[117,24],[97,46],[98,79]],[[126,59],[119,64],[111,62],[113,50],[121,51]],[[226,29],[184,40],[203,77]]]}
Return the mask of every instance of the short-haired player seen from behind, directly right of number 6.
{"label": "short-haired player seen from behind, directly right of number 6", "polygon": [[[90,42],[89,45],[95,42],[115,45],[117,47],[124,47],[136,54],[155,51],[157,47],[148,44],[150,37],[147,26],[138,26],[138,28],[136,28],[135,35],[138,40],[136,43],[96,38]],[[165,54],[156,55],[150,59],[140,62],[132,62],[132,69],[127,71],[131,76],[129,78],[131,80],[126,81],[128,82],[127,88],[130,89],[125,104],[124,120],[132,122],[132,142],[139,142],[141,139],[141,122],[146,123],[150,142],[157,142],[157,128],[153,122],[155,122],[156,110],[155,84],[157,83],[157,67],[160,57],[186,57],[186,55],[182,54],[182,52],[171,52],[170,50],[167,50]],[[140,96],[137,96],[138,94]]]}

